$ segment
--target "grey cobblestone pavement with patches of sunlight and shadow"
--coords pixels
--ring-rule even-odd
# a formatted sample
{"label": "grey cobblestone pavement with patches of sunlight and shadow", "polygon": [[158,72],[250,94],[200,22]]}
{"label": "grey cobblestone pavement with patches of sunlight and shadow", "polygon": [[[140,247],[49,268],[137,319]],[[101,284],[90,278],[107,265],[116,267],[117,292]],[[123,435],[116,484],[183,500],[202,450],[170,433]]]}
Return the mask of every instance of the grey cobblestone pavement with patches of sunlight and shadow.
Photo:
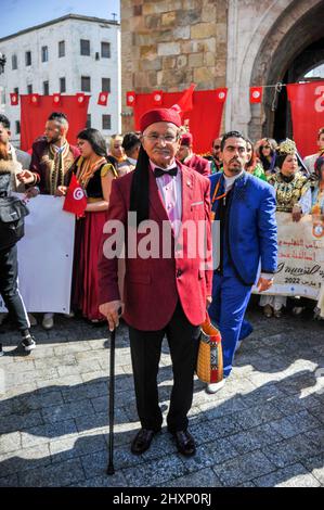
{"label": "grey cobblestone pavement with patches of sunlight and shadow", "polygon": [[[178,455],[165,428],[143,456],[130,454],[139,422],[127,329],[119,328],[109,477],[106,329],[57,317],[50,332],[35,328],[38,347],[29,356],[15,350],[15,333],[2,334],[0,486],[323,486],[324,392],[316,370],[324,368],[324,321],[248,316],[255,331],[224,388],[207,395],[195,382],[190,430],[198,448],[190,459]],[[165,411],[170,386],[164,344]]]}

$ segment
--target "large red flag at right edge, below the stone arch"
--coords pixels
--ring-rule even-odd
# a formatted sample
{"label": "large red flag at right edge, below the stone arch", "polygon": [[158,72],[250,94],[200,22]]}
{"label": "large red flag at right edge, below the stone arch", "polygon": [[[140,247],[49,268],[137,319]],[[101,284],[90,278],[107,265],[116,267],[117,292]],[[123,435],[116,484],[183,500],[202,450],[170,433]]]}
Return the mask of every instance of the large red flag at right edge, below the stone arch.
{"label": "large red flag at right edge, below the stone arch", "polygon": [[324,80],[287,85],[293,133],[302,157],[317,152],[317,131],[324,127]]}

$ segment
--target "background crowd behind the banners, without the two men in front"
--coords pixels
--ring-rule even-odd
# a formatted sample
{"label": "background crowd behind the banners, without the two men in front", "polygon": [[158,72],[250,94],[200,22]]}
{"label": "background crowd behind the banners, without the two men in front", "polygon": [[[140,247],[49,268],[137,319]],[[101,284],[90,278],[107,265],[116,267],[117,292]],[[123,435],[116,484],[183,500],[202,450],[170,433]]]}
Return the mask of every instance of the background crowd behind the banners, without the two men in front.
{"label": "background crowd behind the banners, without the two men in front", "polygon": [[[93,324],[104,321],[98,307],[98,255],[103,225],[106,220],[112,179],[132,171],[138,162],[141,148],[141,132],[114,135],[108,146],[95,129],[85,129],[78,136],[77,145],[67,141],[68,120],[62,113],[52,113],[44,126],[44,136],[33,144],[31,156],[15,149],[10,143],[10,123],[0,116],[0,165],[5,161],[12,165],[13,191],[27,191],[29,196],[37,192],[52,195],[66,193],[72,171],[87,191],[88,206],[86,216],[77,221],[72,296],[72,314],[80,310]],[[198,155],[193,151],[193,135],[187,127],[180,128],[180,148],[177,157],[185,166],[208,177],[223,170],[221,161],[221,140],[212,140],[209,153]],[[274,187],[276,211],[291,213],[294,221],[302,214],[324,213],[324,128],[317,133],[319,151],[302,160],[295,143],[285,140],[277,143],[274,139],[263,138],[257,142],[246,138],[247,161],[245,170]],[[36,190],[36,191],[35,191]],[[91,282],[91,284],[90,284]],[[263,295],[260,306],[265,317],[280,318],[286,305],[285,296]],[[293,313],[304,309],[306,299],[300,299]],[[314,316],[319,318],[315,308]],[[31,326],[37,319],[28,314]],[[44,329],[54,326],[54,314],[49,311],[42,318]]]}

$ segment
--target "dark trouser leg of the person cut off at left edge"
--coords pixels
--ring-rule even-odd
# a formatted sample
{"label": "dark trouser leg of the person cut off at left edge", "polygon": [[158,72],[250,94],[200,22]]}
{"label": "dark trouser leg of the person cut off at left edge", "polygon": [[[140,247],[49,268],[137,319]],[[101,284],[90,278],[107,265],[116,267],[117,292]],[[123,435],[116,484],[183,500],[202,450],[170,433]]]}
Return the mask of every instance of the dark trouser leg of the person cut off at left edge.
{"label": "dark trouser leg of the person cut off at left edge", "polygon": [[0,294],[8,311],[21,331],[30,327],[27,311],[18,290],[17,245],[0,250]]}

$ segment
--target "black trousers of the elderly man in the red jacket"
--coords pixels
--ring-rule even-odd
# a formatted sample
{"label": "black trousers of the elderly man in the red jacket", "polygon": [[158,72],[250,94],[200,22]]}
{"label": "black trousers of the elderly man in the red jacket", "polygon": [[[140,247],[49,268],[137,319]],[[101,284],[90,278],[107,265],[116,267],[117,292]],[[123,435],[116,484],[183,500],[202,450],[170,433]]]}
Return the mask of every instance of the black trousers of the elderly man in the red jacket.
{"label": "black trousers of the elderly man in the red jacket", "polygon": [[163,415],[158,405],[157,373],[165,334],[173,370],[167,424],[169,432],[177,432],[187,429],[186,415],[193,400],[194,371],[200,335],[200,328],[189,322],[180,303],[170,322],[163,330],[139,331],[129,327],[137,407],[142,428],[159,431]]}

